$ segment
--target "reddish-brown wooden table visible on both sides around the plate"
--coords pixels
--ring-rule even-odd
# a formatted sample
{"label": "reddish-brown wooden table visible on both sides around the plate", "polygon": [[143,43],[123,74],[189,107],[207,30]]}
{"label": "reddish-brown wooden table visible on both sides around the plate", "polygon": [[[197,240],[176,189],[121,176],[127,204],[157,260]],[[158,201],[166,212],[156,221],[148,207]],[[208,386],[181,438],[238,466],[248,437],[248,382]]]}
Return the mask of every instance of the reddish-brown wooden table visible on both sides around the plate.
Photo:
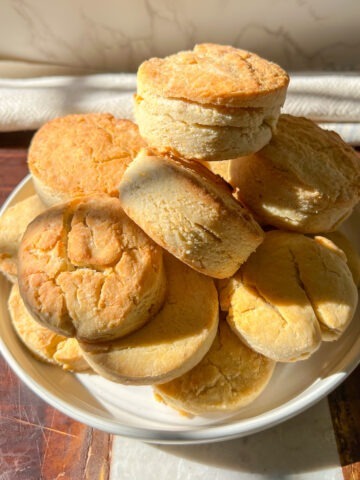
{"label": "reddish-brown wooden table visible on both sides around the plate", "polygon": [[[0,204],[27,174],[32,134],[0,134]],[[360,480],[360,367],[328,402],[344,479]],[[111,444],[111,435],[44,403],[0,358],[1,480],[105,480],[110,477]]]}

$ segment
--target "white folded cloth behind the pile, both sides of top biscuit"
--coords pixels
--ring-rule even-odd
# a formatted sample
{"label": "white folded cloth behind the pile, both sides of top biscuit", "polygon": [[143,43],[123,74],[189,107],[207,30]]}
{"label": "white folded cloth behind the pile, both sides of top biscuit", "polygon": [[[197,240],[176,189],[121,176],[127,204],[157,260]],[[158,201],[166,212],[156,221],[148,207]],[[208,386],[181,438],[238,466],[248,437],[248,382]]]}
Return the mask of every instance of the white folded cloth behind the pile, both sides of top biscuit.
{"label": "white folded cloth behind the pile, both sides of top biscuit", "polygon": [[[284,112],[303,115],[360,145],[360,73],[291,74]],[[0,131],[31,130],[69,113],[133,118],[135,74],[0,78]]]}

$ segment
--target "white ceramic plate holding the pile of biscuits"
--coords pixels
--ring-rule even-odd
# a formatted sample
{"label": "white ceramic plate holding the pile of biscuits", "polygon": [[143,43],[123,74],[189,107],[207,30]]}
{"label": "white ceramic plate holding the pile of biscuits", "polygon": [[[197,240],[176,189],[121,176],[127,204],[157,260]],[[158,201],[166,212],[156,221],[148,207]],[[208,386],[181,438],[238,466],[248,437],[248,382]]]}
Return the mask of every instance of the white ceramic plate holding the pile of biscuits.
{"label": "white ceramic plate holding the pile of biscuits", "polygon": [[[29,176],[10,195],[2,212],[33,193]],[[355,245],[360,245],[359,225],[358,210],[343,228]],[[50,405],[80,422],[147,442],[211,442],[264,430],[300,413],[327,395],[360,360],[358,308],[339,341],[323,344],[304,362],[278,364],[265,392],[249,407],[236,414],[189,419],[158,403],[150,387],[125,387],[94,374],[73,375],[35,360],[12,329],[7,312],[9,291],[10,284],[1,278],[0,348],[27,386]]]}

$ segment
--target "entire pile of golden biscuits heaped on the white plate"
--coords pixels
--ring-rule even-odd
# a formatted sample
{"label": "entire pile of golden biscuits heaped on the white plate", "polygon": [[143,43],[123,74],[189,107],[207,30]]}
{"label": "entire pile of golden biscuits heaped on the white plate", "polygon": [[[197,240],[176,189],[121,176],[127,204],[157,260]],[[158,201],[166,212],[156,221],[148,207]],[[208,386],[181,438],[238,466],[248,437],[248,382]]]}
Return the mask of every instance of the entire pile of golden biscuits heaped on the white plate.
{"label": "entire pile of golden biscuits heaped on the white plate", "polygon": [[0,269],[37,358],[202,415],[248,405],[277,362],[343,334],[360,260],[334,230],[360,160],[281,114],[288,82],[253,53],[197,45],[140,66],[138,126],[69,115],[36,133],[39,198],[0,219]]}

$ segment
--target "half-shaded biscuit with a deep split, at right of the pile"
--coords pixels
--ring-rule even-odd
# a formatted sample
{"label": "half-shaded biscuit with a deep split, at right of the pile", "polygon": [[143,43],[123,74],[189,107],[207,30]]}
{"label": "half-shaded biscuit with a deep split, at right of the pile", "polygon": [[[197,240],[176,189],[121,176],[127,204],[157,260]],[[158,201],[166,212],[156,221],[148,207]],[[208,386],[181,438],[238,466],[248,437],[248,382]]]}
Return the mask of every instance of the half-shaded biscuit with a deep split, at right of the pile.
{"label": "half-shaded biscuit with a deep split, at right of the pile", "polygon": [[[329,241],[328,241],[329,242]],[[303,360],[336,340],[358,293],[343,252],[318,237],[271,231],[239,272],[220,285],[222,310],[253,350],[279,362]]]}

